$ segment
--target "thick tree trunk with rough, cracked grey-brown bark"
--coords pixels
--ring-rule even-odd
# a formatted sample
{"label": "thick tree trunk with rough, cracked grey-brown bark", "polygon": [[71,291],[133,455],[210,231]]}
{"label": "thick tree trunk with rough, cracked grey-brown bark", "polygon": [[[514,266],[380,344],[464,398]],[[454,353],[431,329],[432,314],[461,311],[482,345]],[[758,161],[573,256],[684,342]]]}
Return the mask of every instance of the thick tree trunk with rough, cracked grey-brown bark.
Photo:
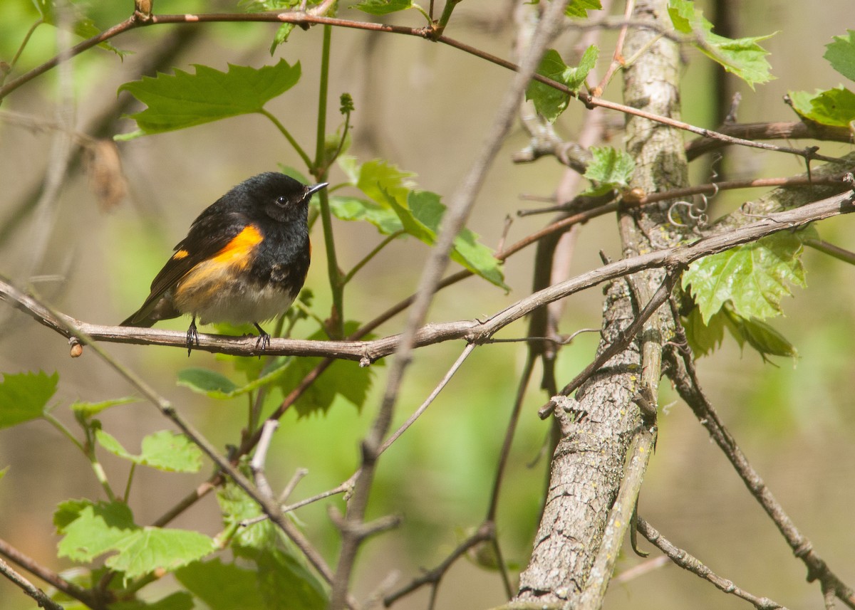
{"label": "thick tree trunk with rough, cracked grey-brown bark", "polygon": [[[669,24],[665,0],[639,0],[633,19]],[[628,33],[624,56],[650,47],[625,71],[625,101],[655,114],[679,116],[679,50],[667,38],[652,41],[656,37],[648,30]],[[633,186],[654,192],[686,184],[679,132],[637,117],[628,120],[627,131],[627,150],[637,164]],[[663,248],[681,237],[686,229],[669,226],[668,205],[619,216],[623,255]],[[662,279],[662,273],[647,273],[606,288],[601,349],[634,320]],[[574,399],[556,409],[563,437],[552,456],[544,513],[516,601],[568,601],[569,607],[579,601],[622,481],[629,440],[639,429],[632,399],[642,383],[655,392],[661,344],[668,334],[667,315],[654,316],[643,340],[608,361]]]}

